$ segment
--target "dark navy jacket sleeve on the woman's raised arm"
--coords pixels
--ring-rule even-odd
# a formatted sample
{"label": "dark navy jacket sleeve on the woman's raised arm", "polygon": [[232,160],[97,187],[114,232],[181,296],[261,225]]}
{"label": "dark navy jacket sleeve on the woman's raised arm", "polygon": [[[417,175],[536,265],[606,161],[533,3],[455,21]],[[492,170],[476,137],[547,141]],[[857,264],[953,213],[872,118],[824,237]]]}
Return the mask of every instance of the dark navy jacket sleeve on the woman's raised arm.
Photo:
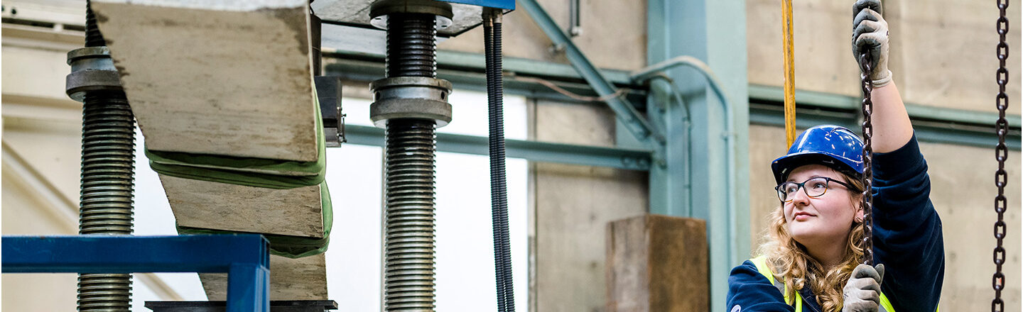
{"label": "dark navy jacket sleeve on the woman's raised arm", "polygon": [[927,162],[916,136],[874,155],[874,261],[882,292],[898,312],[934,312],[944,278],[941,219],[930,200]]}

